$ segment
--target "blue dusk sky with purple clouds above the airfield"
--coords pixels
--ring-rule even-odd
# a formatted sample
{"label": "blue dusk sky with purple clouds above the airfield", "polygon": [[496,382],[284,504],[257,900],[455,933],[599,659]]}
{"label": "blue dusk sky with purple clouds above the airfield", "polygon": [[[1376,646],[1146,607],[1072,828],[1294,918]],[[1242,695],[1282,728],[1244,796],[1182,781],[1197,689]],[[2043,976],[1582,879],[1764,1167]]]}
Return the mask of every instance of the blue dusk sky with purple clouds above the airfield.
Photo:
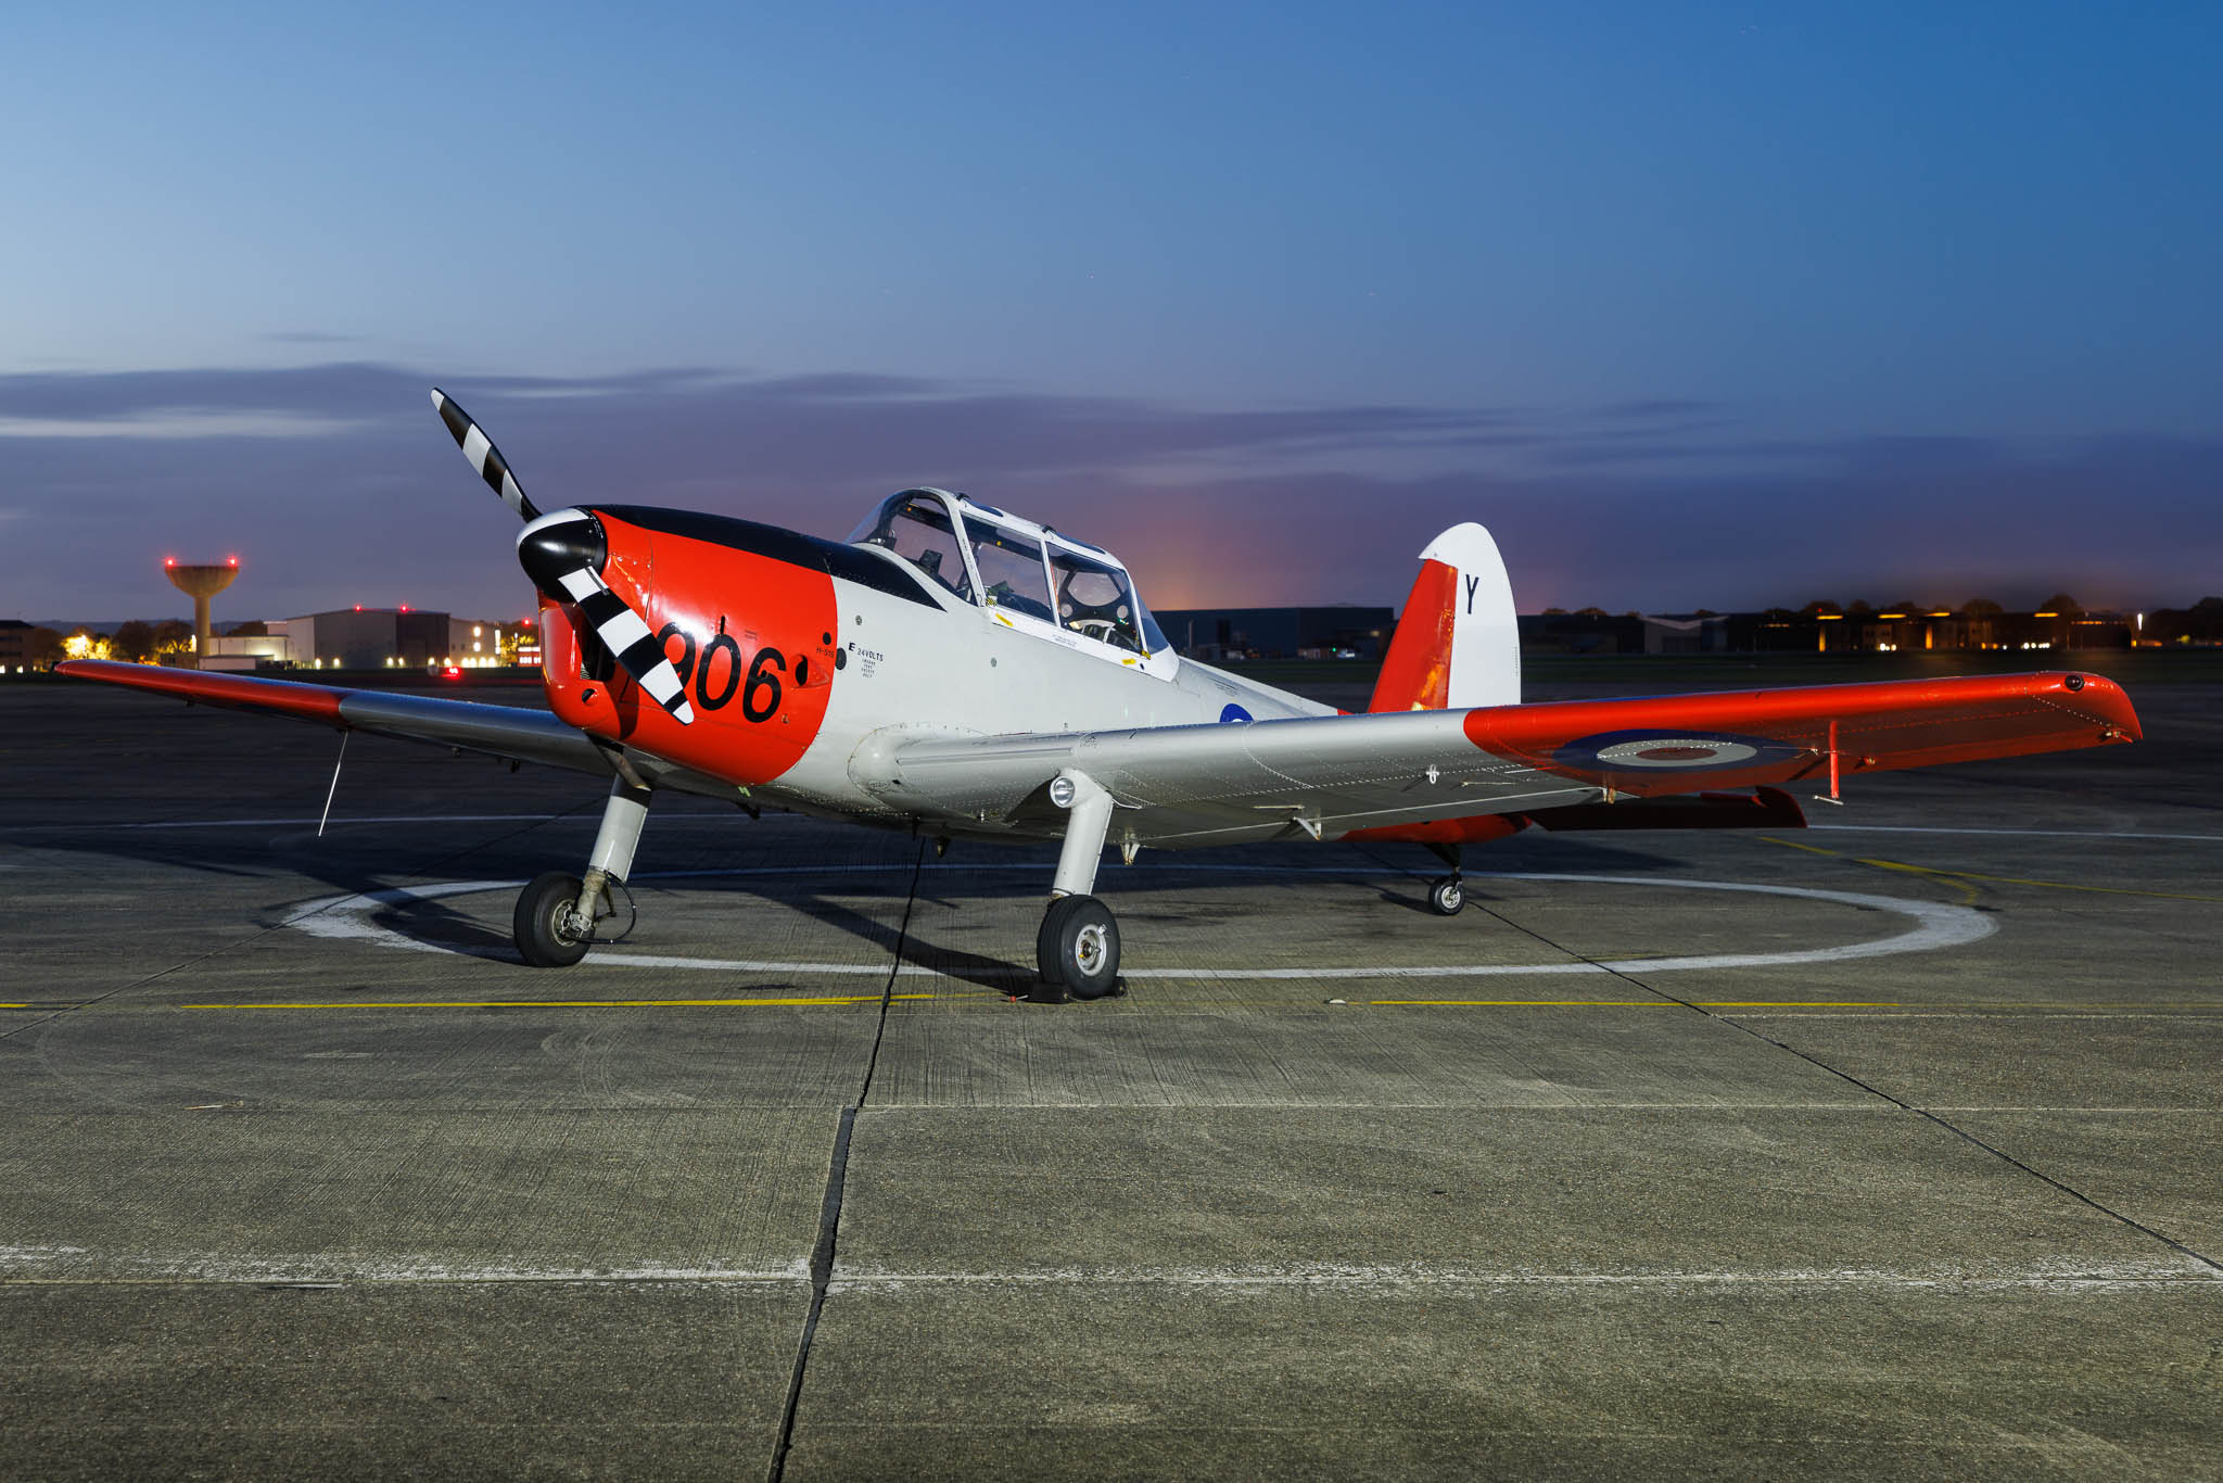
{"label": "blue dusk sky with purple clouds above the airfield", "polygon": [[531,605],[516,520],[967,489],[1160,609],[2223,591],[2223,9],[0,20],[0,616]]}

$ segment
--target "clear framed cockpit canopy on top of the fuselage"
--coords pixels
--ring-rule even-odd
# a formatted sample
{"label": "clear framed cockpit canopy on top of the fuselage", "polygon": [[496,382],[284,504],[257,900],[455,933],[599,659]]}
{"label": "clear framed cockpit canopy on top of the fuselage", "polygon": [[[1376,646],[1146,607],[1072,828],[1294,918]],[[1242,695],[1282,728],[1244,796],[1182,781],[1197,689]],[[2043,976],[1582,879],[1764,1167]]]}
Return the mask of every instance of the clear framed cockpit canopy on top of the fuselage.
{"label": "clear framed cockpit canopy on top of the fuselage", "polygon": [[1172,647],[1109,551],[963,494],[894,494],[849,531],[849,543],[894,551],[960,603],[1145,658]]}

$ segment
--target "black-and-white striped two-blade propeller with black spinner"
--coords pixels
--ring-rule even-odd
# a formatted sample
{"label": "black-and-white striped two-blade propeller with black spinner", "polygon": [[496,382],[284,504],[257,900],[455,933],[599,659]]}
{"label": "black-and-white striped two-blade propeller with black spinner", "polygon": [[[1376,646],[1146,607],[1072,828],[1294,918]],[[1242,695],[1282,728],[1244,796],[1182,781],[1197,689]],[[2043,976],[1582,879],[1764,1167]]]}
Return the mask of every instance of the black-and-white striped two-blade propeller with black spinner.
{"label": "black-and-white striped two-blade propeller with black spinner", "polygon": [[682,727],[694,725],[694,707],[687,705],[687,687],[680,683],[671,656],[665,654],[640,614],[602,580],[602,567],[609,565],[609,536],[594,511],[540,514],[525,498],[509,462],[478,429],[471,414],[438,387],[433,387],[431,405],[440,411],[440,420],[447,422],[449,436],[456,438],[456,447],[462,449],[471,469],[525,520],[525,529],[518,531],[518,565],[525,567],[525,576],[534,578],[534,587],[558,603],[578,607],[578,616],[594,629],[618,669],[629,674],[656,705],[671,711]]}

